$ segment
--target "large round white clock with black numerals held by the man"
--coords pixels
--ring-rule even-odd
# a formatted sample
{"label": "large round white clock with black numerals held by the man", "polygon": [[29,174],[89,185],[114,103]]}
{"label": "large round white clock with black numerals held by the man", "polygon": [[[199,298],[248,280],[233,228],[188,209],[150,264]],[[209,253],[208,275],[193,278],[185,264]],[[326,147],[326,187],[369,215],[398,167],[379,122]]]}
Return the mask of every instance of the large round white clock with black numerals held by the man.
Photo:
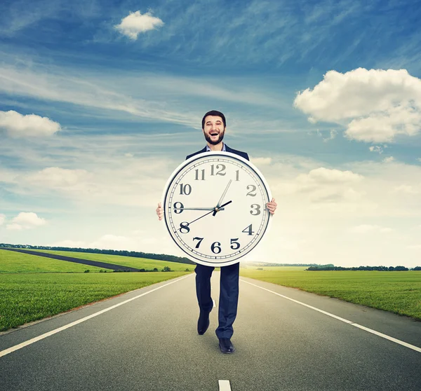
{"label": "large round white clock with black numerals held by the man", "polygon": [[163,193],[166,227],[189,259],[206,266],[241,261],[267,232],[269,186],[248,160],[203,152],[173,172]]}

